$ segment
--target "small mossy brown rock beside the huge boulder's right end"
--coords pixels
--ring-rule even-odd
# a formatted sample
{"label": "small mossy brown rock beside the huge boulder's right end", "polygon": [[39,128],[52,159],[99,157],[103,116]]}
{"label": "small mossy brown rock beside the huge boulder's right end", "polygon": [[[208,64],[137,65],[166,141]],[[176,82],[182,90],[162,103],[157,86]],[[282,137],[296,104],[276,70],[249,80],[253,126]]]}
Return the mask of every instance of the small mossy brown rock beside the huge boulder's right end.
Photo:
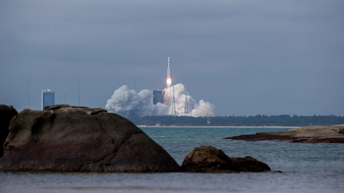
{"label": "small mossy brown rock beside the huge boulder's right end", "polygon": [[267,164],[251,157],[230,158],[220,149],[212,146],[196,147],[183,161],[186,172],[233,173],[269,171]]}

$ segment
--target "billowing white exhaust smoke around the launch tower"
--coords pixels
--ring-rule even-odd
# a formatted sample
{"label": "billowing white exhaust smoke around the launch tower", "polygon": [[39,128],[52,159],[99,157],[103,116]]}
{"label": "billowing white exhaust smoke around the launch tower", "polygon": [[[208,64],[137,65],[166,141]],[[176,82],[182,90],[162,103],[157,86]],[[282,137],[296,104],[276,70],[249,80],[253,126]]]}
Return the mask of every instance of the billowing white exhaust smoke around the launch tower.
{"label": "billowing white exhaust smoke around the launch tower", "polygon": [[[146,116],[146,115],[170,115],[172,110],[173,86],[165,91],[165,104],[152,104],[153,94],[150,90],[141,90],[139,93],[129,90],[126,85],[115,90],[111,99],[107,100],[105,109],[112,113],[117,113],[124,117]],[[214,116],[215,105],[200,100],[198,103],[189,93],[186,94],[189,114],[184,113],[185,106],[185,86],[183,84],[174,85],[174,100],[177,116]]]}

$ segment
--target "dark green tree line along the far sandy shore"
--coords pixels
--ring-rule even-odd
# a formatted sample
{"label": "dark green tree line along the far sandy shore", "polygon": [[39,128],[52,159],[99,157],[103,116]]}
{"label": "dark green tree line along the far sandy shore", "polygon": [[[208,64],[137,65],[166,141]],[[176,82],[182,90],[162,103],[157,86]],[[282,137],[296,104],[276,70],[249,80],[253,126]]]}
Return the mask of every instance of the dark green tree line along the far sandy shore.
{"label": "dark green tree line along the far sandy shore", "polygon": [[207,117],[191,116],[143,116],[129,117],[136,125],[146,126],[308,126],[344,124],[344,116],[336,115],[256,115],[256,116],[212,116],[210,124]]}

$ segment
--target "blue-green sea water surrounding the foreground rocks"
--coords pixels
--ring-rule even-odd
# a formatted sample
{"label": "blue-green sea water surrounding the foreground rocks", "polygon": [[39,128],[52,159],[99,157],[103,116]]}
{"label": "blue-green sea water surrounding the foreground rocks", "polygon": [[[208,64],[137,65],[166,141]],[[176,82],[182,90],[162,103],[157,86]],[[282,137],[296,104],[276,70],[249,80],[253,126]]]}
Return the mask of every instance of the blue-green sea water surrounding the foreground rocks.
{"label": "blue-green sea water surrounding the foreground rocks", "polygon": [[285,128],[143,127],[182,164],[194,147],[251,156],[283,173],[37,173],[0,171],[0,192],[344,192],[344,144],[244,142],[223,137]]}

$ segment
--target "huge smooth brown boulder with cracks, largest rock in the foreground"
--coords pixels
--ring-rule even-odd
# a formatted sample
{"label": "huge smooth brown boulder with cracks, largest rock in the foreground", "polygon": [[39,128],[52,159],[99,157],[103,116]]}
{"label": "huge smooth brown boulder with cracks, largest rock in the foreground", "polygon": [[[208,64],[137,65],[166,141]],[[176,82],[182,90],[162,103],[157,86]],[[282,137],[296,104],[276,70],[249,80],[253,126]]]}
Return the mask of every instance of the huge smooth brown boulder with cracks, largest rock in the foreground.
{"label": "huge smooth brown boulder with cracks, largest rock in the foreground", "polygon": [[0,170],[176,172],[180,166],[125,118],[69,105],[21,110],[4,143]]}

